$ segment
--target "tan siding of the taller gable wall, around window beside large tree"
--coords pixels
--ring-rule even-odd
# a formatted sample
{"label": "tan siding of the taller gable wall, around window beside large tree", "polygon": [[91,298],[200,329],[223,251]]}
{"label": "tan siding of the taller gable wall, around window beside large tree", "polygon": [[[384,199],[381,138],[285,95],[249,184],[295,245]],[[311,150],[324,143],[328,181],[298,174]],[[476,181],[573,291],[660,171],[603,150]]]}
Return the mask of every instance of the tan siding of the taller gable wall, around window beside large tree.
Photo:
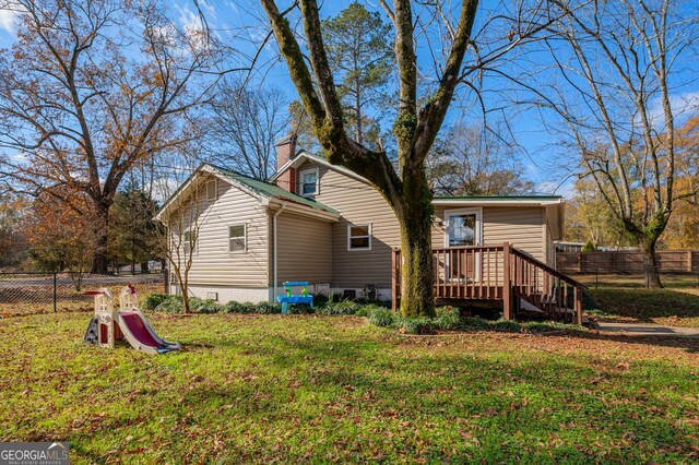
{"label": "tan siding of the taller gable wall, around window beside large tree", "polygon": [[[319,170],[316,200],[339,210],[332,229],[332,286],[391,285],[391,248],[400,246],[398,220],[386,200],[369,184],[327,166],[306,162],[297,172]],[[371,225],[371,250],[347,250],[347,225]]]}

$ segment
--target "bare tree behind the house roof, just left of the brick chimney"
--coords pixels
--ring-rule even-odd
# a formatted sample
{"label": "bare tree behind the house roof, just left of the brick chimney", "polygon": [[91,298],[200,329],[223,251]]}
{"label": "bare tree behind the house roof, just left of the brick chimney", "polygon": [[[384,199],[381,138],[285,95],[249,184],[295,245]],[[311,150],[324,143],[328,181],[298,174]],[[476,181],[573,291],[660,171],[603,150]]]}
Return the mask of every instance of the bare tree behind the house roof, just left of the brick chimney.
{"label": "bare tree behind the house roof, just left of the brick chimney", "polygon": [[246,86],[239,79],[222,80],[211,105],[211,162],[268,179],[274,171],[274,141],[288,127],[284,94],[274,87]]}

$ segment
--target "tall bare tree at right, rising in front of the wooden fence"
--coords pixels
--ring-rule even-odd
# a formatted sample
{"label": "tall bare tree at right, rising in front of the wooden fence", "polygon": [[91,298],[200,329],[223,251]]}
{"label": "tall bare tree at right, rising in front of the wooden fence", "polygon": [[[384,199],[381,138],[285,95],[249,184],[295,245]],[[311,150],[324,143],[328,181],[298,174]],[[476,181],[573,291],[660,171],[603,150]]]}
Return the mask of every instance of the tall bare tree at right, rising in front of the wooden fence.
{"label": "tall bare tree at right, rising in front of the wooden fence", "polygon": [[655,245],[677,192],[674,92],[679,63],[694,60],[699,37],[690,2],[619,0],[579,9],[556,2],[567,20],[544,44],[552,68],[529,88],[559,117],[618,224],[642,249],[647,282],[662,287]]}

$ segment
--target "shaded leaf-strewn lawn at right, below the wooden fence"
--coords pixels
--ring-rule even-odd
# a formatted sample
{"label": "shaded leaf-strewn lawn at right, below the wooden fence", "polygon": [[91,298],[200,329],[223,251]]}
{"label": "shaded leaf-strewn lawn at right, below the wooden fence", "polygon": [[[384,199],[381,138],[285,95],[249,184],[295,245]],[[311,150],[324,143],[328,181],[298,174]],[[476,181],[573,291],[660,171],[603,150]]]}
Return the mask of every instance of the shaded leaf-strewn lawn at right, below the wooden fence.
{"label": "shaded leaf-strewn lawn at right, below the wooden fence", "polygon": [[594,302],[585,310],[601,311],[604,320],[699,327],[699,277],[663,276],[664,289],[645,289],[642,277],[578,276],[589,286]]}

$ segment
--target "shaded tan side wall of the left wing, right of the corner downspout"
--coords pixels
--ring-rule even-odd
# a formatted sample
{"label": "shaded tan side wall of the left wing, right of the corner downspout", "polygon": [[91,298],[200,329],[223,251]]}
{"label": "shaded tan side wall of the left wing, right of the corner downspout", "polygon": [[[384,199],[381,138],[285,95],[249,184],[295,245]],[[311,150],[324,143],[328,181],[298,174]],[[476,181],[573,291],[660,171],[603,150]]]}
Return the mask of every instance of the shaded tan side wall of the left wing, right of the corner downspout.
{"label": "shaded tan side wall of the left wing, right of the corner downspout", "polygon": [[330,283],[331,224],[283,212],[276,225],[279,285],[284,281]]}

